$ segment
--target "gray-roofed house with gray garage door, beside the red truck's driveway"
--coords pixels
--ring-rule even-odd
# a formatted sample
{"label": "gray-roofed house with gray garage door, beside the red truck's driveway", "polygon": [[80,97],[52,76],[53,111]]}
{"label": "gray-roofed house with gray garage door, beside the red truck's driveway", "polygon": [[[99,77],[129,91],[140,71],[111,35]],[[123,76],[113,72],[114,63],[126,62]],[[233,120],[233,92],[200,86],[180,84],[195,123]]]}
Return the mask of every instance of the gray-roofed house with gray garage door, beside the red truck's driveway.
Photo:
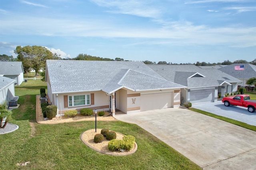
{"label": "gray-roofed house with gray garage door, beside the red truck's driveway", "polygon": [[187,86],[181,89],[181,103],[216,102],[218,94],[236,92],[240,80],[218,69],[202,69],[189,65],[148,65],[171,82]]}

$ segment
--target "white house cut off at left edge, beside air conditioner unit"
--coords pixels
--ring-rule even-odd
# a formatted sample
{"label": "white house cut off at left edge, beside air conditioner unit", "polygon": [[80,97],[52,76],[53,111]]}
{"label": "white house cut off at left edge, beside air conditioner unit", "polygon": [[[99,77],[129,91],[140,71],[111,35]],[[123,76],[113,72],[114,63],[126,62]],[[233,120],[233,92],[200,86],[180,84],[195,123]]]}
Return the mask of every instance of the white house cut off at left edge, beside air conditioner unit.
{"label": "white house cut off at left edge, beside air conditioner unit", "polygon": [[14,79],[0,76],[0,104],[4,104],[4,102],[8,104],[14,98],[14,83]]}

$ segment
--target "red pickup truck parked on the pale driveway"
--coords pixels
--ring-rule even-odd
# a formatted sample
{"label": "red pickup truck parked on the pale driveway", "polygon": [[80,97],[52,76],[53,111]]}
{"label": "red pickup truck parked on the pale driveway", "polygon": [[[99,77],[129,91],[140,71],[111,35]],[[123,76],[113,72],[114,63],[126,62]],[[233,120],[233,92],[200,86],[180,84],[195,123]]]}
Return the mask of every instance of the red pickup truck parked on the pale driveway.
{"label": "red pickup truck parked on the pale driveway", "polygon": [[256,100],[250,100],[250,96],[245,94],[236,95],[234,97],[224,97],[222,103],[224,103],[225,106],[232,104],[233,106],[248,107],[248,111],[251,113],[253,113],[256,108]]}

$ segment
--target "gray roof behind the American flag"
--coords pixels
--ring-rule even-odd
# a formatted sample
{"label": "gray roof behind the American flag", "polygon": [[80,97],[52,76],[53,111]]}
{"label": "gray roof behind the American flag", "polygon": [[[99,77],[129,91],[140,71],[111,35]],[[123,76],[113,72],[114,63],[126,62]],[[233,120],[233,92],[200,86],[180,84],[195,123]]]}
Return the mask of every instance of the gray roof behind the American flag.
{"label": "gray roof behind the American flag", "polygon": [[[244,65],[244,70],[235,70],[235,66],[239,65]],[[218,70],[239,79],[250,79],[252,77],[256,77],[256,65],[248,63],[235,63],[223,68],[219,68]]]}

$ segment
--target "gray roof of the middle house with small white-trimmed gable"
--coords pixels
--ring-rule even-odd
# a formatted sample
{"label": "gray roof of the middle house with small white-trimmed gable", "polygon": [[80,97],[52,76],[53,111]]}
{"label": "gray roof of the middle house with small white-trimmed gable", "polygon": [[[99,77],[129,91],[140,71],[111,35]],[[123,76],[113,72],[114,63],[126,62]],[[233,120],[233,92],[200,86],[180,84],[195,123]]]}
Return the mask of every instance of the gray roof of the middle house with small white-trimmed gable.
{"label": "gray roof of the middle house with small white-trimmed gable", "polygon": [[[241,82],[218,69],[202,69],[198,66],[189,65],[149,65],[161,76],[171,82],[193,87],[219,86],[220,82],[237,83]],[[195,75],[194,75],[195,74]],[[194,75],[194,76],[193,76]],[[203,75],[203,76],[201,76]],[[192,77],[191,77],[192,76]],[[191,77],[191,78],[189,78]]]}

